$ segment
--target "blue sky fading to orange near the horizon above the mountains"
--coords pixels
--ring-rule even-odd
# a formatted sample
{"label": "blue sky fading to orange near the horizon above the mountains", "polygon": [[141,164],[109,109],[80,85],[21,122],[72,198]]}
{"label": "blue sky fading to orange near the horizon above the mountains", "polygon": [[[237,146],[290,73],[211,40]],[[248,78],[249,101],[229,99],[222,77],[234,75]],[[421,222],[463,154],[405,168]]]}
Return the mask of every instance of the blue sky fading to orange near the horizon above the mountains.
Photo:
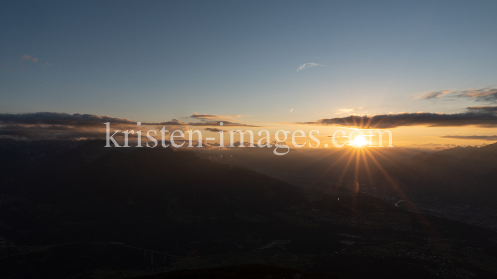
{"label": "blue sky fading to orange near the horizon above the mountains", "polygon": [[[466,113],[496,106],[496,13],[494,0],[8,1],[0,113],[197,112],[294,130],[350,114]],[[496,127],[393,128],[409,144]]]}

